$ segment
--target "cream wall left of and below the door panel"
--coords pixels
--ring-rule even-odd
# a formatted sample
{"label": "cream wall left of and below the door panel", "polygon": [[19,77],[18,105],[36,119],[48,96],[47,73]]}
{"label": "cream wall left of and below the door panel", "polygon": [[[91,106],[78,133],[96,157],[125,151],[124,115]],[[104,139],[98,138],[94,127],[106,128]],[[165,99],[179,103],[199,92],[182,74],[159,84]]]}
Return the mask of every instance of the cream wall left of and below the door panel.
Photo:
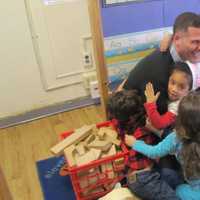
{"label": "cream wall left of and below the door panel", "polygon": [[0,24],[0,118],[86,95],[82,84],[45,91],[23,0],[1,2]]}

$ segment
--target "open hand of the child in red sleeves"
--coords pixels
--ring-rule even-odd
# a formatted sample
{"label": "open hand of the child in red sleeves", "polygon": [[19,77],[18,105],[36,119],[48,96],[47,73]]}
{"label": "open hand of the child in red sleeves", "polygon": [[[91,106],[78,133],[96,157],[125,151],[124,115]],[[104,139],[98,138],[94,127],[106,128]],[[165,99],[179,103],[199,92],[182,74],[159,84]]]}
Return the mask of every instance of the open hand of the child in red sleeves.
{"label": "open hand of the child in red sleeves", "polygon": [[153,85],[150,82],[146,84],[146,89],[144,91],[144,94],[146,96],[147,103],[156,102],[158,97],[160,96],[160,92],[157,92],[156,94],[154,94]]}

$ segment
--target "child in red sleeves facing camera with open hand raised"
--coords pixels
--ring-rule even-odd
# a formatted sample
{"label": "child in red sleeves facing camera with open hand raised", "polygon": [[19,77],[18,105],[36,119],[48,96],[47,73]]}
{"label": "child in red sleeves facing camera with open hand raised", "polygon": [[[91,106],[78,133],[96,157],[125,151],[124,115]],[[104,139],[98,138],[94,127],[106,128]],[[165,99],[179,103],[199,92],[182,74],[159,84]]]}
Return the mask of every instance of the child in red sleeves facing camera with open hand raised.
{"label": "child in red sleeves facing camera with open hand raised", "polygon": [[162,115],[157,111],[156,101],[160,93],[154,93],[153,85],[146,85],[146,103],[144,107],[148,120],[157,129],[163,129],[175,122],[177,108],[180,100],[192,89],[192,72],[189,66],[183,62],[174,64],[168,81],[168,111]]}

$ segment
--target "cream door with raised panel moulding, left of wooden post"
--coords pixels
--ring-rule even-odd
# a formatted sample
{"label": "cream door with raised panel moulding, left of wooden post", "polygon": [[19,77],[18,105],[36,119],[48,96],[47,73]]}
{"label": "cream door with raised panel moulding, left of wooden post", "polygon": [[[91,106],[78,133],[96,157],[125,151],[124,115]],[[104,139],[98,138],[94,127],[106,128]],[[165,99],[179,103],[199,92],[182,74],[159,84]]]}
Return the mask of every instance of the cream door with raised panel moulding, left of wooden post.
{"label": "cream door with raised panel moulding, left of wooden post", "polygon": [[[87,0],[26,0],[32,38],[46,90],[82,82],[90,39]],[[91,42],[90,42],[91,43]]]}

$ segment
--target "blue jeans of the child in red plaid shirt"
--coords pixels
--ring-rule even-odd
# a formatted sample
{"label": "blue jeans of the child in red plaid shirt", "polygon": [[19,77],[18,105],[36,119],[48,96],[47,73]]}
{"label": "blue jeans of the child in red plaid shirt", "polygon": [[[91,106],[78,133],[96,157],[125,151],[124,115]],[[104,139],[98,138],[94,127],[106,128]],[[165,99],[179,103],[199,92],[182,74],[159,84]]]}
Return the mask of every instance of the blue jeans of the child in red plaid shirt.
{"label": "blue jeans of the child in red plaid shirt", "polygon": [[128,182],[128,187],[143,200],[180,200],[157,170],[138,173],[135,182]]}

